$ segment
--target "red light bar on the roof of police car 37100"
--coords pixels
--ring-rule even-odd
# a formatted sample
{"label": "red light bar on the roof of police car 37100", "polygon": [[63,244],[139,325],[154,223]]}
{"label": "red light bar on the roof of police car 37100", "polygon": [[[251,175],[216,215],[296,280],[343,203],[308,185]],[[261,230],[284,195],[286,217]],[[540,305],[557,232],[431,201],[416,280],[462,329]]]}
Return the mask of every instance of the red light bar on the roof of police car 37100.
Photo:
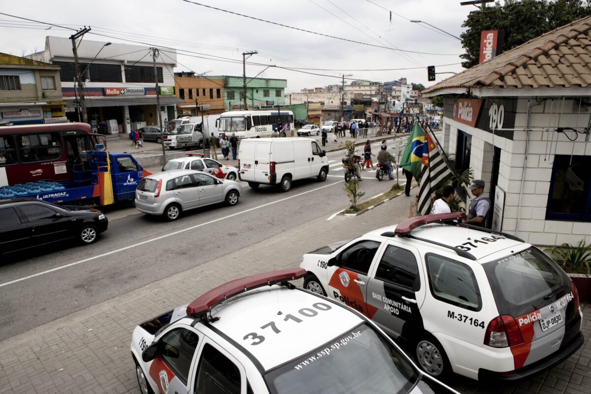
{"label": "red light bar on the roof of police car 37100", "polygon": [[223,285],[211,289],[200,295],[187,306],[187,315],[197,317],[212,310],[220,302],[242,294],[245,291],[262,286],[271,286],[279,282],[303,278],[306,270],[303,268],[285,268],[277,271],[257,273],[246,278],[235,279]]}

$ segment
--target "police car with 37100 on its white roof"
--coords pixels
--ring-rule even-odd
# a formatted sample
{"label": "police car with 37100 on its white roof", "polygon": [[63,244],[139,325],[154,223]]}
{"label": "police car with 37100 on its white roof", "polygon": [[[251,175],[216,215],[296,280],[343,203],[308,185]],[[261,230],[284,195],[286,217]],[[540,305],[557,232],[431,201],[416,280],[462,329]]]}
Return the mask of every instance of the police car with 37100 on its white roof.
{"label": "police car with 37100 on its white roof", "polygon": [[362,314],[290,284],[301,268],[236,279],[135,328],[148,393],[456,393]]}

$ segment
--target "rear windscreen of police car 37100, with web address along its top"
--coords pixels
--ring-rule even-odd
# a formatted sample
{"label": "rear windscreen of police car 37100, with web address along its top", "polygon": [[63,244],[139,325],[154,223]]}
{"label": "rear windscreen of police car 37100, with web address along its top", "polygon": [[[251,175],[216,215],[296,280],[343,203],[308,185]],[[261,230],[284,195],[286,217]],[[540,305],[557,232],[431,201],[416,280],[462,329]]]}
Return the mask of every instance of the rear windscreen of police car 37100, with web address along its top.
{"label": "rear windscreen of police car 37100, with web address along its top", "polygon": [[419,377],[367,323],[265,375],[273,394],[407,393]]}

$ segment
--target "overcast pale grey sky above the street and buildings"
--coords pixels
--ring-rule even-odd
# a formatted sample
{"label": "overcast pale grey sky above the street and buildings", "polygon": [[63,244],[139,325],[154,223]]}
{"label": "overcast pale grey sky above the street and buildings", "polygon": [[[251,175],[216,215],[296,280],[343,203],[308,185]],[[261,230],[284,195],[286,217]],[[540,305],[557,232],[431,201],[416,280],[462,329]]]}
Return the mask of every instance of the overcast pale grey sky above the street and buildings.
{"label": "overcast pale grey sky above the street and buildings", "polygon": [[[335,77],[314,76],[273,67],[261,74],[262,77],[287,79],[286,92],[291,93],[304,87],[339,83],[339,76],[343,73],[353,74],[351,78],[378,82],[407,77],[408,82],[428,86],[427,66],[453,64],[437,67],[436,70],[462,70],[459,64],[462,59],[458,56],[463,53],[462,45],[459,40],[428,30],[428,26],[412,23],[409,19],[420,19],[459,37],[467,14],[476,9],[474,6],[460,6],[460,0],[196,2],[348,40],[431,54],[401,52],[322,37],[182,0],[2,1],[0,12],[68,27],[89,25],[92,28],[90,33],[116,37],[85,35],[89,40],[133,44],[125,41],[126,38],[199,53],[189,56],[190,54],[179,51],[175,71],[191,70],[196,73],[207,72],[207,75],[240,76],[242,52],[251,50],[259,52],[250,59],[256,63],[291,68],[332,69],[302,71]],[[392,11],[391,21],[389,11]],[[25,25],[36,28],[25,28]],[[0,52],[18,56],[22,53],[30,54],[43,50],[46,35],[69,37],[72,34],[72,31],[56,27],[51,30],[45,28],[47,27],[0,15],[0,36],[4,38]],[[229,58],[240,63],[194,57],[202,56],[201,54]],[[348,71],[409,68],[410,70]],[[246,74],[253,77],[264,69],[265,66],[247,64]],[[437,81],[450,75],[437,76]]]}

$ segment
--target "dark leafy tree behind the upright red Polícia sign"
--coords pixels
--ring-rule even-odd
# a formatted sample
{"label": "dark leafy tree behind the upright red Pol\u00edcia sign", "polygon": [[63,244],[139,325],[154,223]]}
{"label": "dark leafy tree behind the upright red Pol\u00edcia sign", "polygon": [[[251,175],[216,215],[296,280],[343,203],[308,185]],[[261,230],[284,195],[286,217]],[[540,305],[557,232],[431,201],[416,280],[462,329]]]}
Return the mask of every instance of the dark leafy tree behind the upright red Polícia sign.
{"label": "dark leafy tree behind the upright red Pol\u00edcia sign", "polygon": [[470,12],[460,34],[466,50],[462,58],[465,69],[478,64],[480,32],[504,30],[503,50],[508,51],[545,32],[554,30],[591,14],[590,0],[505,0],[504,5]]}

